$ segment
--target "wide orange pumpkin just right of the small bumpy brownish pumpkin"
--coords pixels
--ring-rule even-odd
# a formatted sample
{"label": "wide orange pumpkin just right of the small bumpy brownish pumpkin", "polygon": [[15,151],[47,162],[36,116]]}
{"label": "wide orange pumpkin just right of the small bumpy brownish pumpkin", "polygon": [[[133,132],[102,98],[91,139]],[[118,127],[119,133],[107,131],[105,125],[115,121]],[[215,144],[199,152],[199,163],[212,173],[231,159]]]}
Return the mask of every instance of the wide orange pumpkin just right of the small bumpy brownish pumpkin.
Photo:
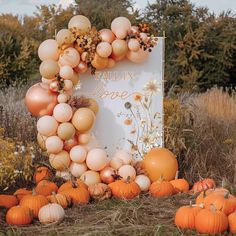
{"label": "wide orange pumpkin just right of the small bumpy brownish pumpkin", "polygon": [[133,199],[141,192],[139,185],[135,181],[130,180],[130,178],[117,180],[108,186],[111,189],[112,195],[119,199]]}

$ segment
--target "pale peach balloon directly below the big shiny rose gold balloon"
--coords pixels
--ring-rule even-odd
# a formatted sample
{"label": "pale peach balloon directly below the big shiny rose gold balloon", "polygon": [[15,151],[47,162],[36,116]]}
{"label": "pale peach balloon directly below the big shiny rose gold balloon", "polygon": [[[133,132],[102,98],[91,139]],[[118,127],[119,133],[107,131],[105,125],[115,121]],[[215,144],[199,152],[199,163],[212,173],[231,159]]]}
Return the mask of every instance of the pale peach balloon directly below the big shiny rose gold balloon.
{"label": "pale peach balloon directly below the big shiny rose gold balloon", "polygon": [[53,116],[42,116],[37,121],[37,130],[40,134],[49,137],[57,132],[58,123]]}

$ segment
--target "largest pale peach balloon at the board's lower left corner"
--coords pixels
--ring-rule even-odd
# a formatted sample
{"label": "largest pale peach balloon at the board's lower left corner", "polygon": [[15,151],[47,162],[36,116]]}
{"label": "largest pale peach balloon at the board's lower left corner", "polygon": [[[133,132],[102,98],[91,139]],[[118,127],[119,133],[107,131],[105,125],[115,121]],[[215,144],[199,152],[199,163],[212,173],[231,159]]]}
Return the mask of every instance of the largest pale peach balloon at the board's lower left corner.
{"label": "largest pale peach balloon at the board's lower left corner", "polygon": [[95,148],[88,152],[86,164],[89,169],[100,171],[108,162],[107,153],[103,149]]}

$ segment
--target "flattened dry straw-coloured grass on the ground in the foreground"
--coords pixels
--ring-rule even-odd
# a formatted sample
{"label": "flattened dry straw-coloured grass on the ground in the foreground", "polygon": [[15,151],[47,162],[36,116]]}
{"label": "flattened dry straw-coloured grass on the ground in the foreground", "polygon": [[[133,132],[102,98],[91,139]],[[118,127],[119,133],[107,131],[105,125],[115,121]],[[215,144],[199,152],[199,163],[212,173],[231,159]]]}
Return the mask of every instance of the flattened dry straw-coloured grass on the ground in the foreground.
{"label": "flattened dry straw-coloured grass on the ground in the foreground", "polygon": [[[66,210],[65,220],[53,226],[39,222],[27,227],[9,227],[4,222],[0,229],[8,235],[195,235],[180,231],[173,224],[176,209],[189,204],[193,196],[179,194],[154,199],[142,195],[131,201],[107,200]],[[1,235],[0,230],[0,235]]]}

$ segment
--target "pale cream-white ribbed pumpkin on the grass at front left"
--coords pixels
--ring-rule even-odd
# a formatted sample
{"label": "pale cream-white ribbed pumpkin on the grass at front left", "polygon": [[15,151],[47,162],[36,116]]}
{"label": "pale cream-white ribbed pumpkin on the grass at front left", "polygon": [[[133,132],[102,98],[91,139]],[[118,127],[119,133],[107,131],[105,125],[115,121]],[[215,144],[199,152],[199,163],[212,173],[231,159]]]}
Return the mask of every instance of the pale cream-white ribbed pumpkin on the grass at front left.
{"label": "pale cream-white ribbed pumpkin on the grass at front left", "polygon": [[39,210],[39,221],[42,224],[59,223],[64,217],[65,211],[57,203],[49,203]]}

